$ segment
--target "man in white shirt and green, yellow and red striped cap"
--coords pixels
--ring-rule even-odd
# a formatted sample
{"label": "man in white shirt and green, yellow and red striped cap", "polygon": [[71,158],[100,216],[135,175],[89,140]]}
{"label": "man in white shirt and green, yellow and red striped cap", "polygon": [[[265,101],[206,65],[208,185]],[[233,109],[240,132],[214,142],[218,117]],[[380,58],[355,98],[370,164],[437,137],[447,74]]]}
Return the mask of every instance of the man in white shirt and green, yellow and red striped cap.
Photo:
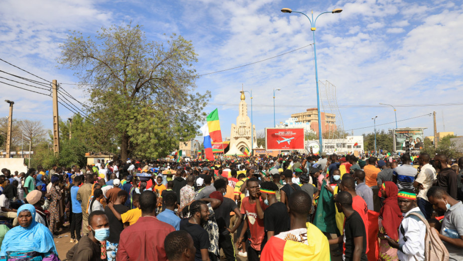
{"label": "man in white shirt and green, yellow and red striped cap", "polygon": [[425,260],[426,225],[412,212],[424,217],[420,208],[416,206],[416,194],[409,188],[402,188],[397,194],[397,202],[404,219],[399,226],[399,243],[386,237],[389,246],[398,249],[397,257],[400,261]]}

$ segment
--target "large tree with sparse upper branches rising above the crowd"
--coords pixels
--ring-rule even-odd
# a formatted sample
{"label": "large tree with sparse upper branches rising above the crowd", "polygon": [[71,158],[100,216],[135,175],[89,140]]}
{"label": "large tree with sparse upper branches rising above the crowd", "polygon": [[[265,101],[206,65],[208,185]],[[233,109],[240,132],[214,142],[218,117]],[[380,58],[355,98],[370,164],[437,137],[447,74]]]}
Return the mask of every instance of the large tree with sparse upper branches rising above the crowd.
{"label": "large tree with sparse upper branches rising above the crowd", "polygon": [[[148,41],[142,27],[102,28],[96,40],[72,32],[59,62],[76,70],[88,111],[111,130],[120,155],[155,158],[195,137],[210,93],[194,93],[197,61],[191,41],[175,34]],[[74,127],[73,127],[74,128]]]}

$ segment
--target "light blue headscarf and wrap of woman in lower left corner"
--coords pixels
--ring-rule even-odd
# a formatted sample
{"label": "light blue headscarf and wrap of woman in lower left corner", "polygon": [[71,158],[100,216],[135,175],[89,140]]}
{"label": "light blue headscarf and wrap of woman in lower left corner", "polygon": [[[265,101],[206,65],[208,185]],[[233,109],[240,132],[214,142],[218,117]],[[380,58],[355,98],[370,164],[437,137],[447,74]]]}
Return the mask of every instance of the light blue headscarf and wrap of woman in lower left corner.
{"label": "light blue headscarf and wrap of woman in lower left corner", "polygon": [[7,252],[53,252],[57,255],[55,242],[50,230],[44,225],[35,222],[35,208],[31,204],[24,204],[18,208],[17,214],[29,211],[32,215],[32,223],[26,228],[17,226],[6,233],[0,256],[6,256]]}

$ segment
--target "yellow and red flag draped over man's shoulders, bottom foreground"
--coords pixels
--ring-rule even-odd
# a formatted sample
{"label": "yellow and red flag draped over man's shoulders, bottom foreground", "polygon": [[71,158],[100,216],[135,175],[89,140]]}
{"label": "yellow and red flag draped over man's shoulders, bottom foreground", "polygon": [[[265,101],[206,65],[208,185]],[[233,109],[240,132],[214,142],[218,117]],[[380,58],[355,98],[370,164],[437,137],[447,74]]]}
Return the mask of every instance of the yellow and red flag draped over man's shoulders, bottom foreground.
{"label": "yellow and red flag draped over man's shoulders, bottom foreground", "polygon": [[330,245],[328,238],[316,226],[307,222],[308,245],[300,243],[297,238],[291,239],[289,234],[286,240],[271,237],[265,244],[260,260],[265,261],[295,261],[317,260],[330,261]]}

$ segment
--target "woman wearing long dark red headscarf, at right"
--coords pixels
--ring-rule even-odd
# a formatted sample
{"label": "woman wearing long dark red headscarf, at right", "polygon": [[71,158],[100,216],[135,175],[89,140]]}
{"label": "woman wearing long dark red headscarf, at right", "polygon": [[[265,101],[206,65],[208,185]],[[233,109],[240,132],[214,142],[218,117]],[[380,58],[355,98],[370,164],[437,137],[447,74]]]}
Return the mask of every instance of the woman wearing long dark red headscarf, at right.
{"label": "woman wearing long dark red headscarf, at right", "polygon": [[385,198],[383,207],[379,212],[379,260],[397,261],[397,249],[391,248],[385,236],[397,241],[399,240],[398,228],[402,222],[402,212],[397,203],[399,189],[392,181],[384,182],[379,188],[378,196]]}

